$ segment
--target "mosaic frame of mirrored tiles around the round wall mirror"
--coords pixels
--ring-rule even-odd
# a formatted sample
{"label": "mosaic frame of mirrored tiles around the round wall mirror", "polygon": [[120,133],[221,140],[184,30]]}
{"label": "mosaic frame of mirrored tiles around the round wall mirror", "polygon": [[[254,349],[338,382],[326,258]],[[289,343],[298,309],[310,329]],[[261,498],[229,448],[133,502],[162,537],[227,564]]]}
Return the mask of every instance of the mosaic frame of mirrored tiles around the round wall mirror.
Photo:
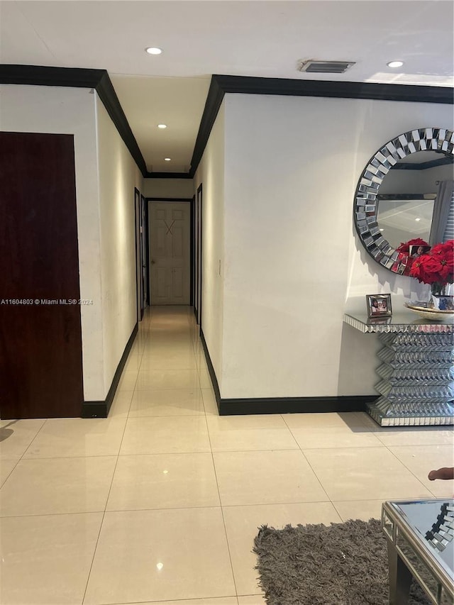
{"label": "mosaic frame of mirrored tiles around the round wall mirror", "polygon": [[389,170],[407,155],[418,151],[454,154],[454,131],[447,128],[417,128],[389,140],[372,157],[363,170],[355,192],[353,219],[362,245],[380,265],[403,274],[405,263],[382,235],[377,222],[378,192]]}

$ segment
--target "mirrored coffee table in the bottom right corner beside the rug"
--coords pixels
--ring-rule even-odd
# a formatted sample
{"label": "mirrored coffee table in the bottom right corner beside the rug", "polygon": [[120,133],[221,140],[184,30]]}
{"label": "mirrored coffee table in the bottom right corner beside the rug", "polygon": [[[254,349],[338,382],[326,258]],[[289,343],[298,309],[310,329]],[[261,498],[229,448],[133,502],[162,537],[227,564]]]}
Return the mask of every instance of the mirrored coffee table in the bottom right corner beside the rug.
{"label": "mirrored coffee table in the bottom right corner beside the rug", "polygon": [[389,604],[407,603],[414,577],[433,605],[453,605],[454,501],[384,502],[382,529],[388,543]]}

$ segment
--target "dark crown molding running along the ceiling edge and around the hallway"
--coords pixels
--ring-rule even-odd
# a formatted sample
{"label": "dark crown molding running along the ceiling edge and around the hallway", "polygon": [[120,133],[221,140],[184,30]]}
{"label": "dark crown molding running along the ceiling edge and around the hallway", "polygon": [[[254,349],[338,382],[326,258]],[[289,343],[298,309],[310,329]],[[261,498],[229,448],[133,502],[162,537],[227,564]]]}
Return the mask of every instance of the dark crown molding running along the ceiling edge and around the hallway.
{"label": "dark crown molding running along the ceiling edge and around the hallway", "polygon": [[329,82],[215,74],[211,77],[189,172],[148,172],[143,155],[140,152],[106,70],[86,70],[79,67],[43,67],[37,65],[0,65],[0,84],[31,84],[34,86],[67,86],[95,89],[145,179],[192,179],[194,177],[201,157],[204,154],[206,143],[218,115],[224,94],[228,92],[325,96],[337,99],[413,101],[418,103],[453,104],[454,102],[454,89],[450,87]]}

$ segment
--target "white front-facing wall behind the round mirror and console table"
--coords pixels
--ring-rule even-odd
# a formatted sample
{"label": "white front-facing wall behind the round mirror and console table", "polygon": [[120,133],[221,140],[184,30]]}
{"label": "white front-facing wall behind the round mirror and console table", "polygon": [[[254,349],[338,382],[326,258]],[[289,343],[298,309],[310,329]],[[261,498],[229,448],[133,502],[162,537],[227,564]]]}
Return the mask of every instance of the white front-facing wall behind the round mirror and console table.
{"label": "white front-facing wall behind the round mirror and console table", "polygon": [[221,397],[373,394],[375,336],[344,328],[343,313],[379,292],[398,311],[417,288],[362,248],[355,188],[387,140],[453,128],[450,106],[245,94],[224,103]]}

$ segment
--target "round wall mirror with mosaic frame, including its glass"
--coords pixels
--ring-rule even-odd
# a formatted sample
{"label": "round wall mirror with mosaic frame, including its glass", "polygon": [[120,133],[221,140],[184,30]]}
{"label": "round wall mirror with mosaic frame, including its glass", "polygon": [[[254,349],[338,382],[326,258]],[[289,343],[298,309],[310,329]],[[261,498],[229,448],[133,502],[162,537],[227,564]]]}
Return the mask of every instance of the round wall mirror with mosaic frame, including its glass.
{"label": "round wall mirror with mosaic frame, including its glass", "polygon": [[362,245],[383,267],[403,274],[400,243],[440,240],[436,223],[445,223],[452,199],[453,154],[453,131],[419,128],[390,140],[367,162],[355,193],[354,221]]}

